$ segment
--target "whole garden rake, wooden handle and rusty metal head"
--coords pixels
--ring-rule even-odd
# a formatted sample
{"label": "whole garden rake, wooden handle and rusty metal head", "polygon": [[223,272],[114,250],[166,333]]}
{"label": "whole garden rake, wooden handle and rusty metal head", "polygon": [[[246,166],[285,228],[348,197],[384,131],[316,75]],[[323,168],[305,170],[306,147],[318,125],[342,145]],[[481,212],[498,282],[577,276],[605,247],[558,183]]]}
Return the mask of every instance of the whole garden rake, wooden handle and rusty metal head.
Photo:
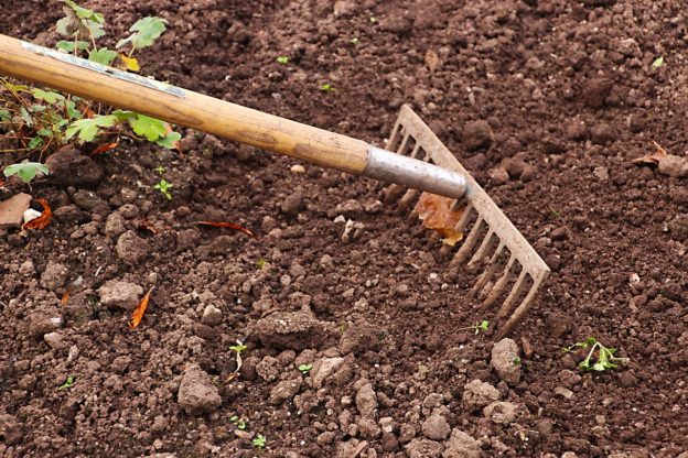
{"label": "whole garden rake, wooden handle and rusty metal head", "polygon": [[362,140],[1,34],[0,73],[313,164],[393,183],[387,200],[399,199],[402,208],[410,208],[421,192],[452,198],[452,208],[463,210],[455,229],[471,229],[455,252],[443,246],[442,254],[451,255],[452,268],[467,260],[469,271],[484,269],[472,294],[483,301],[485,310],[505,297],[496,315],[498,336],[509,334],[524,318],[549,274],[549,268],[533,247],[408,106],[401,108],[387,150],[383,150]]}

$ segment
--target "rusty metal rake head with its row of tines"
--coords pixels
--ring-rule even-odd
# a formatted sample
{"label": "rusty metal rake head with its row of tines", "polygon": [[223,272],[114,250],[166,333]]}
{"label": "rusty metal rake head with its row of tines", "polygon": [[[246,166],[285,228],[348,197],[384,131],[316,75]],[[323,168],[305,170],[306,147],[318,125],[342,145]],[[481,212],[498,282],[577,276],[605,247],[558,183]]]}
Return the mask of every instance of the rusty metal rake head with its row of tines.
{"label": "rusty metal rake head with its row of tines", "polygon": [[[463,209],[455,229],[464,233],[470,226],[471,229],[458,250],[443,246],[441,253],[451,257],[453,268],[463,265],[466,260],[467,271],[476,272],[483,268],[471,294],[483,302],[483,312],[504,297],[495,321],[497,336],[508,335],[525,317],[549,275],[549,268],[410,107],[401,107],[386,149],[460,172],[465,177],[465,195],[453,203],[453,209]],[[402,209],[408,209],[419,196],[419,190],[391,185],[386,200],[399,201]]]}

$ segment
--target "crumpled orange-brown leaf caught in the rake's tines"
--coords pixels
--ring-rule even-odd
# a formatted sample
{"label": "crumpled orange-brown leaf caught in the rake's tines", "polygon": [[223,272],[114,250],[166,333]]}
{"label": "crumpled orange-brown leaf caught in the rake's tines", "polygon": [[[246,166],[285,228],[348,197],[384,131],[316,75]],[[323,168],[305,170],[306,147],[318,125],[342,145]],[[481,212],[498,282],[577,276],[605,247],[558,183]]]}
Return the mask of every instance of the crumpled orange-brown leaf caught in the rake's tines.
{"label": "crumpled orange-brown leaf caught in the rake's tines", "polygon": [[442,243],[453,247],[463,238],[463,232],[454,229],[463,215],[463,209],[452,210],[454,199],[422,193],[416,204],[415,210],[428,229],[438,231],[442,237]]}

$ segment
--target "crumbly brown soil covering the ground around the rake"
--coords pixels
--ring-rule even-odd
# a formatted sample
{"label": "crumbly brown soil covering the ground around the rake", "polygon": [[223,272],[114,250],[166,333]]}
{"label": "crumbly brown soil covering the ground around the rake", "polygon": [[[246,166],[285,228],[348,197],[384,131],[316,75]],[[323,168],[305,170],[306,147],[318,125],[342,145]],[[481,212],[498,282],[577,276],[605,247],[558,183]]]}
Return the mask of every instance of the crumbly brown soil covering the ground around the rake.
{"label": "crumbly brown soil covering the ground around the rake", "polygon": [[[43,3],[0,0],[0,33],[54,44],[60,2]],[[181,154],[121,144],[82,164],[95,183],[2,195],[45,197],[55,219],[0,230],[0,455],[688,450],[688,192],[630,162],[652,141],[687,146],[680,2],[84,3],[108,19],[110,45],[138,18],[165,18],[140,61],[182,87],[378,145],[410,103],[552,274],[514,342],[496,345],[469,329],[495,313],[469,297],[474,276],[380,205],[384,184],[191,131]],[[153,188],[159,165],[171,201]],[[343,219],[358,223],[346,240]],[[561,348],[589,336],[630,362],[581,372]]]}

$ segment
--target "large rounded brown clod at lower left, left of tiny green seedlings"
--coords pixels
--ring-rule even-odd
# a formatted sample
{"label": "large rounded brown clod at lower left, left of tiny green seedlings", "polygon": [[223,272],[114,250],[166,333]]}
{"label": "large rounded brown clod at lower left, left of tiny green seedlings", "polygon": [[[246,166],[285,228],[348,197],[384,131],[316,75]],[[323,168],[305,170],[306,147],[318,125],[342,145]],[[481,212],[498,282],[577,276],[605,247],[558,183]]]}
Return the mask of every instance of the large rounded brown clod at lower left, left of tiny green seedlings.
{"label": "large rounded brown clod at lower left, left of tiny green seedlings", "polygon": [[187,414],[200,416],[219,407],[222,399],[207,372],[197,364],[192,364],[182,377],[178,402]]}

